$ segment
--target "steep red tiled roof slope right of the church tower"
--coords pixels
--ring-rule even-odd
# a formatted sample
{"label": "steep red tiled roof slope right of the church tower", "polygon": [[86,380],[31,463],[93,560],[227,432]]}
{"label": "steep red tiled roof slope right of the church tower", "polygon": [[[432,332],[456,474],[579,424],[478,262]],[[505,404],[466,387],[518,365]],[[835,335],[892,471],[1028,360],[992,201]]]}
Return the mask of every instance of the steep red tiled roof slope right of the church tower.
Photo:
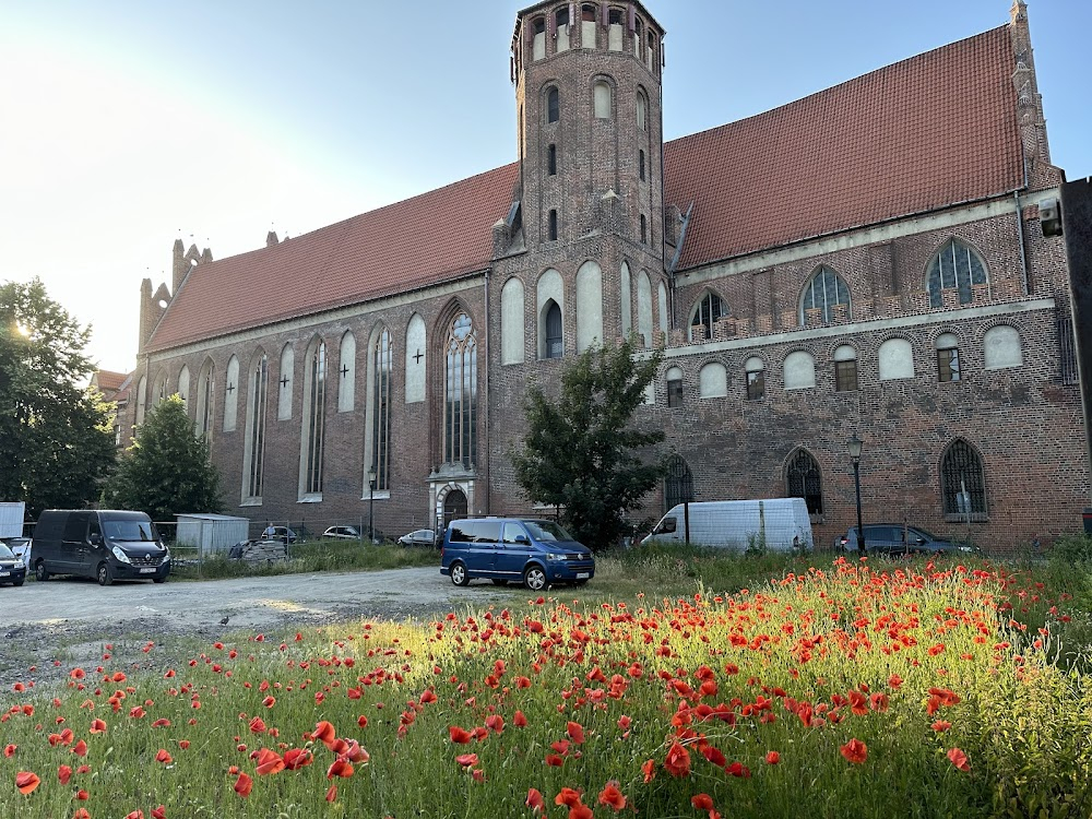
{"label": "steep red tiled roof slope right of the church tower", "polygon": [[665,146],[679,269],[1016,190],[1007,26]]}

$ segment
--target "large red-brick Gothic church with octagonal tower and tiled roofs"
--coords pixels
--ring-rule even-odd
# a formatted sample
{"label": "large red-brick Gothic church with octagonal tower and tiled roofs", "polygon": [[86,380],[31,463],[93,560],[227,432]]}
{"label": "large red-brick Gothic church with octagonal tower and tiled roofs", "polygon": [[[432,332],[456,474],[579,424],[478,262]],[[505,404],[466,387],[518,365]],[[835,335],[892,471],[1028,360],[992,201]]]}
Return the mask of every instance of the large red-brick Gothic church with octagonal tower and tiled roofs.
{"label": "large red-brick Gothic church with octagonal tower and tiled roofs", "polygon": [[[664,351],[645,514],[798,496],[1014,547],[1089,489],[1063,238],[1026,8],[968,39],[663,141],[664,29],[542,2],[511,43],[515,162],[141,290],[127,412],[179,393],[224,511],[375,525],[526,512],[529,382],[630,333]],[[246,305],[262,305],[260,311]]]}

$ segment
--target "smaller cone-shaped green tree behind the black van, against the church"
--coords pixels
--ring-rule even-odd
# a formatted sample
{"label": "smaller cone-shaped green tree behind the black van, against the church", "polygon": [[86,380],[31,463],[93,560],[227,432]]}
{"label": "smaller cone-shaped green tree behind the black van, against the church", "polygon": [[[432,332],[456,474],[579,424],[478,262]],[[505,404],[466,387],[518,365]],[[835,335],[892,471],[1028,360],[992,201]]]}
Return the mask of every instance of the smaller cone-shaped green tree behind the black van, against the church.
{"label": "smaller cone-shaped green tree behind the black van, against the church", "polygon": [[219,511],[219,473],[209,459],[209,442],[193,435],[193,422],[178,395],[144,416],[106,483],[103,506],[135,509],[154,521],[173,520],[180,512]]}

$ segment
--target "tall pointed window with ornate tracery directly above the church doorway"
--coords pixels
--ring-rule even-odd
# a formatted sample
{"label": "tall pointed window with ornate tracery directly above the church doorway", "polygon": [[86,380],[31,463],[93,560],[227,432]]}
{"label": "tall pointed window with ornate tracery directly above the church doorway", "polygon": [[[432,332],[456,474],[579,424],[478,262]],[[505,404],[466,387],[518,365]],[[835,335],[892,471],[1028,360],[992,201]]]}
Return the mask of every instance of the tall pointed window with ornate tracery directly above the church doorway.
{"label": "tall pointed window with ornate tracery directly above the church doorway", "polygon": [[474,464],[477,429],[477,342],[470,316],[460,313],[448,330],[443,384],[443,460]]}

